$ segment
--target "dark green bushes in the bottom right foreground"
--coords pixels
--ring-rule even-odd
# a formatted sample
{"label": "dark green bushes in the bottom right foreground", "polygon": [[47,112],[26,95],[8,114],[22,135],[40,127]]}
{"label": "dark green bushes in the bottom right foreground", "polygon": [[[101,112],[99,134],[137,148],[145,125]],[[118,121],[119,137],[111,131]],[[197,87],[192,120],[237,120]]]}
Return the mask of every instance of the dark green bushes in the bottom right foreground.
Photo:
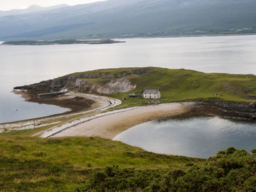
{"label": "dark green bushes in the bottom right foreground", "polygon": [[202,166],[188,164],[168,172],[108,166],[77,191],[256,191],[255,172],[256,150],[249,154],[230,147]]}

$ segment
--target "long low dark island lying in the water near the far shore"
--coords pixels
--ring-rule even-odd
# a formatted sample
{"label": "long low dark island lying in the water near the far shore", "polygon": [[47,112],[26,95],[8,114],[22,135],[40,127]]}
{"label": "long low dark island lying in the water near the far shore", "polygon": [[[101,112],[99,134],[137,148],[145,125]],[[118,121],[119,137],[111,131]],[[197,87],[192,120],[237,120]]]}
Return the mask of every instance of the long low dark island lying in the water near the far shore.
{"label": "long low dark island lying in the water near the far shore", "polygon": [[101,39],[101,40],[75,40],[75,39],[63,39],[56,41],[9,41],[4,42],[2,45],[70,45],[70,44],[112,44],[119,43],[119,41],[114,41],[111,39]]}

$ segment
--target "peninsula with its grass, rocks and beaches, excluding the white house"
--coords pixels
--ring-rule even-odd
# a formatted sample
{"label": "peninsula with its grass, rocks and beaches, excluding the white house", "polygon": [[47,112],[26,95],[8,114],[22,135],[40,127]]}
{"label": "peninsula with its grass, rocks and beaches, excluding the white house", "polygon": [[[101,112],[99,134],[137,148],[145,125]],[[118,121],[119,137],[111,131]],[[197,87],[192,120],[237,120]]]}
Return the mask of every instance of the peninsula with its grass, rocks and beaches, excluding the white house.
{"label": "peninsula with its grass, rocks and beaches, excluding the white house", "polygon": [[[141,93],[146,88],[159,89],[162,98],[144,99]],[[207,74],[157,67],[99,69],[14,89],[27,101],[71,109],[64,116],[50,118],[50,123],[58,122],[57,126],[35,133],[42,137],[113,139],[139,123],[176,116],[256,119],[256,76],[252,74]],[[38,120],[40,125],[44,121],[48,123],[49,119]]]}

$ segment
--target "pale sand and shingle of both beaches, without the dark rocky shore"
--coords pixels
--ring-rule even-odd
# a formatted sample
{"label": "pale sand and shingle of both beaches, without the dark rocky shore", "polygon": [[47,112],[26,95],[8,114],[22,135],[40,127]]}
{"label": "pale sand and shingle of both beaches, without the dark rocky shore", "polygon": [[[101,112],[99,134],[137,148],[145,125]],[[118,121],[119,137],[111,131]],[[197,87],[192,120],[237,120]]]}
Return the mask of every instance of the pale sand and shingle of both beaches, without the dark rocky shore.
{"label": "pale sand and shingle of both beaches, without the dark rocky shore", "polygon": [[[97,96],[85,93],[66,93],[57,96],[55,100],[63,101],[63,99],[74,99],[76,97],[89,99],[94,101],[89,109],[80,112],[71,112],[69,114],[54,115],[53,117],[39,118],[37,120],[23,120],[15,123],[0,124],[0,131],[23,130],[49,126],[57,123],[58,125],[50,127],[46,130],[39,131],[33,136],[42,138],[48,137],[102,137],[105,139],[113,139],[122,131],[131,128],[140,123],[150,120],[163,118],[171,118],[183,115],[189,112],[194,106],[194,102],[170,103],[148,105],[144,107],[130,107],[121,110],[108,111],[113,107],[121,104],[118,99],[111,99],[105,96]],[[83,115],[83,117],[74,118],[64,122],[56,122],[55,119],[67,118],[72,115]],[[48,120],[53,122],[50,124]]]}

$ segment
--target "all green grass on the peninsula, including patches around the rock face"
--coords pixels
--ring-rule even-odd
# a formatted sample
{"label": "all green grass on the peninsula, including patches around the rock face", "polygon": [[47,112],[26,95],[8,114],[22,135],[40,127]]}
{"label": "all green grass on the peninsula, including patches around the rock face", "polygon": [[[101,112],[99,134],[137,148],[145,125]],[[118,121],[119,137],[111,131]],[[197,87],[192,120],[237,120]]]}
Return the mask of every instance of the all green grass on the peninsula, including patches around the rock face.
{"label": "all green grass on the peninsula, including patches around the rock face", "polygon": [[[100,69],[91,72],[80,72],[71,74],[78,77],[81,74],[99,74],[105,75],[91,82],[97,85],[105,85],[108,76],[124,74],[133,69],[140,68],[122,68],[122,69]],[[184,101],[187,99],[204,99],[208,101],[254,101],[256,98],[256,76],[252,74],[218,74],[203,73],[186,69],[163,69],[153,68],[152,71],[141,75],[129,75],[128,78],[137,88],[129,93],[140,93],[145,88],[159,88],[162,94],[162,102]],[[86,79],[90,80],[90,79]],[[129,93],[118,93],[111,95],[114,98],[122,99]],[[124,104],[136,105],[145,99],[128,99]]]}

